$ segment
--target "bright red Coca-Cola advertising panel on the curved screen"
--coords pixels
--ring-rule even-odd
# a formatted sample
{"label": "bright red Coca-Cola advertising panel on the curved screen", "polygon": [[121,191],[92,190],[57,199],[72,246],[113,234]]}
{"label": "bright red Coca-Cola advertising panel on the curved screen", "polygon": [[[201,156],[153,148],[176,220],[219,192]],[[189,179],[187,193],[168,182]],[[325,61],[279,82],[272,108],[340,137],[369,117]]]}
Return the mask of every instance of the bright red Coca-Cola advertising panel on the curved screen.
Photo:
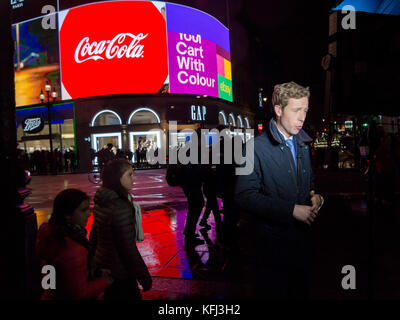
{"label": "bright red Coca-Cola advertising panel on the curved screen", "polygon": [[168,76],[166,21],[150,1],[60,13],[62,98],[156,93]]}

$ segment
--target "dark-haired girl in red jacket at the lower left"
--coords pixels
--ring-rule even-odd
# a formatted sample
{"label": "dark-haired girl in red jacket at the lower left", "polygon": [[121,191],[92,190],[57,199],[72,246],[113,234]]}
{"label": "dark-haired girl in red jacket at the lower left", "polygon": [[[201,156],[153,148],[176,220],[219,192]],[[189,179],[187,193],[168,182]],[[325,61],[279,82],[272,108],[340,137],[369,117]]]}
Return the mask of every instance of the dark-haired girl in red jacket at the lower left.
{"label": "dark-haired girl in red jacket at the lower left", "polygon": [[45,290],[43,300],[96,299],[112,283],[109,271],[88,281],[91,274],[88,261],[89,242],[86,223],[90,216],[89,197],[77,189],[61,191],[53,203],[49,223],[41,225],[36,251],[43,265],[56,271],[56,288]]}

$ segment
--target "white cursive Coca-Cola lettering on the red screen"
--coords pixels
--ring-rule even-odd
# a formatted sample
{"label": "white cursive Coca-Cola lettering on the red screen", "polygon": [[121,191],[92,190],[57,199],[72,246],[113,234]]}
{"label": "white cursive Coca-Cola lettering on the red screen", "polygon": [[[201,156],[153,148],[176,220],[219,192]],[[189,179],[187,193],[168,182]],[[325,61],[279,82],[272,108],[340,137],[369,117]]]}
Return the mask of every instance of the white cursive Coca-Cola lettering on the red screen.
{"label": "white cursive Coca-Cola lettering on the red screen", "polygon": [[[133,35],[131,33],[120,33],[112,40],[101,40],[99,42],[89,41],[89,37],[85,37],[79,42],[75,49],[75,62],[82,63],[87,60],[104,60],[104,59],[121,59],[126,58],[140,58],[143,56],[144,45],[140,41],[146,38],[148,34]],[[130,38],[129,46],[123,44],[125,38]],[[104,56],[102,54],[104,53]]]}

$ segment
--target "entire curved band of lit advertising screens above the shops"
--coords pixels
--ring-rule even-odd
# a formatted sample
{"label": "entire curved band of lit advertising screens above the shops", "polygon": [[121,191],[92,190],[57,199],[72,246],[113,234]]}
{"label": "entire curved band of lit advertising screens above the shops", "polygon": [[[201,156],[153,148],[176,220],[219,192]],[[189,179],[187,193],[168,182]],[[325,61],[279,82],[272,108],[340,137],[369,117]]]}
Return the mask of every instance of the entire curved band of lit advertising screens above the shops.
{"label": "entire curved band of lit advertising screens above the shops", "polygon": [[17,106],[39,103],[46,81],[63,100],[179,93],[232,101],[229,30],[207,13],[166,2],[107,1],[56,16],[55,29],[37,27],[42,18],[13,25]]}

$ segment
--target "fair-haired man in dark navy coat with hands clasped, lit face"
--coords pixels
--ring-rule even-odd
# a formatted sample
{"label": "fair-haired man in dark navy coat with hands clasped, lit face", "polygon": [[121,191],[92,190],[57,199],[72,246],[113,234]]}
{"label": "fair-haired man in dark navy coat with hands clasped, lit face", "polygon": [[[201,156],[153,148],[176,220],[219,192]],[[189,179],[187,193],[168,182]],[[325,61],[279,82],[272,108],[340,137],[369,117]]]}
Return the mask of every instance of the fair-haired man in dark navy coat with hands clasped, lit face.
{"label": "fair-haired man in dark navy coat with hands clasped, lit face", "polygon": [[276,119],[254,139],[254,170],[238,177],[236,203],[248,213],[249,255],[256,297],[306,298],[311,224],[323,198],[315,194],[308,143],[302,130],[309,90],[276,85]]}

